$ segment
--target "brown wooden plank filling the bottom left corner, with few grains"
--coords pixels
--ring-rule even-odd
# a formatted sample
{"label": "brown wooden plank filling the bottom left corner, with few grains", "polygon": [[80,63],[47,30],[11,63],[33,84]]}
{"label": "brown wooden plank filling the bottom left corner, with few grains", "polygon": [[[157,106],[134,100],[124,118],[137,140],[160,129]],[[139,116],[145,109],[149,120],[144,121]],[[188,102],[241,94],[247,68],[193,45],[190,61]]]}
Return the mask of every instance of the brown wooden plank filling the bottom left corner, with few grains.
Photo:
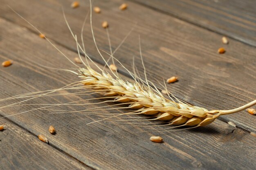
{"label": "brown wooden plank filling the bottom left corner, with few grains", "polygon": [[83,163],[52,148],[7,119],[0,119],[0,166],[5,170],[92,170]]}

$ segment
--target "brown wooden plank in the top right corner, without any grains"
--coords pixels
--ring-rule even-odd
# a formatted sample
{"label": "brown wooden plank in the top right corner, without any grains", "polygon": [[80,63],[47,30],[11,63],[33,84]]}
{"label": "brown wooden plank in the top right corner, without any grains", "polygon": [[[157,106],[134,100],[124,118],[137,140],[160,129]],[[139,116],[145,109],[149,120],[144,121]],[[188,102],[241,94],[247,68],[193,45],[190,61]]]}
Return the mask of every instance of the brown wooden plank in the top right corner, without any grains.
{"label": "brown wooden plank in the top right corner, without any grains", "polygon": [[256,46],[255,0],[131,1]]}

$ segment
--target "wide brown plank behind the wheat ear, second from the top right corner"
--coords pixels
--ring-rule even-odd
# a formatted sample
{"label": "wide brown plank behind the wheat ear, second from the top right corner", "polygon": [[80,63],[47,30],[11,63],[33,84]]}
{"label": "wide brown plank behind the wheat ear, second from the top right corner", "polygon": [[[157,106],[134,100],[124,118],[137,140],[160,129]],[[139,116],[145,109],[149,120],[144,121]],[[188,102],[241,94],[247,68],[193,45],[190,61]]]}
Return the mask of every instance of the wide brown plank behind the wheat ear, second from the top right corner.
{"label": "wide brown plank behind the wheat ear, second from the top right corner", "polygon": [[[76,44],[65,22],[60,21],[63,16],[59,4],[64,6],[74,33],[79,35],[85,13],[88,11],[88,3],[81,2],[81,6],[74,10],[70,8],[71,2],[72,0],[60,3],[40,0],[30,3],[29,0],[23,0],[15,3],[9,1],[9,4],[49,38],[68,49],[76,50]],[[236,108],[256,98],[254,47],[234,40],[230,40],[228,45],[223,45],[222,36],[217,33],[132,2],[129,3],[128,10],[119,11],[118,7],[122,2],[120,0],[94,2],[95,6],[103,10],[101,14],[95,14],[92,18],[100,49],[109,51],[106,31],[101,28],[103,20],[108,20],[110,23],[109,32],[113,49],[137,22],[133,33],[115,54],[128,69],[132,70],[132,56],[135,56],[136,67],[141,74],[144,73],[137,43],[138,34],[140,34],[144,62],[148,68],[148,79],[157,84],[155,79],[162,82],[162,77],[167,79],[177,75],[180,77],[179,82],[169,84],[168,88],[184,101],[211,110]],[[3,11],[0,13],[3,18],[32,30],[31,26],[20,20],[6,5],[2,5],[0,9]],[[89,23],[85,28],[87,52],[94,60],[103,63],[93,45]],[[227,49],[227,52],[222,55],[217,53],[221,46]],[[125,73],[123,69],[120,71]],[[256,117],[249,115],[246,111],[226,115],[220,119],[234,121],[240,128],[248,131],[256,129]]]}

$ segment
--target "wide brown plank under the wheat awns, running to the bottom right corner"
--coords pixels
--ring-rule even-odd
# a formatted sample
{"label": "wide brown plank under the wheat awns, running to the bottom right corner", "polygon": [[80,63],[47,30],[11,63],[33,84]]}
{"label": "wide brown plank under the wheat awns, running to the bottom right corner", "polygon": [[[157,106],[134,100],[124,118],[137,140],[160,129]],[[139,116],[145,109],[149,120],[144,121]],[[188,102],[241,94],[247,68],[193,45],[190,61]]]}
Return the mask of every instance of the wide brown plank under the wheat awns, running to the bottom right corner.
{"label": "wide brown plank under the wheat awns, running to the bottom right corner", "polygon": [[[12,66],[0,68],[0,98],[56,89],[75,82],[77,77],[45,69],[38,64],[54,68],[70,68],[71,64],[45,40],[19,26],[0,19],[1,49],[0,60],[13,59]],[[72,59],[76,53],[58,46]],[[31,50],[32,49],[32,50]],[[2,90],[3,89],[3,90]],[[82,96],[90,99],[98,95]],[[81,99],[79,96],[46,97],[27,101],[25,104],[59,104]],[[101,106],[88,103],[93,108]],[[1,106],[6,104],[1,102]],[[21,113],[36,106],[2,108],[2,115]],[[78,110],[80,106],[61,106],[58,109]],[[124,113],[113,110],[111,113]],[[45,134],[52,146],[95,169],[254,169],[256,138],[236,129],[223,121],[194,130],[173,132],[141,132],[139,127],[118,124],[115,121],[100,121],[86,125],[96,116],[66,113],[50,114],[47,110],[37,110],[8,117],[35,135]],[[109,113],[108,110],[103,113]],[[56,128],[56,135],[50,135],[49,125]],[[141,132],[141,133],[137,133]],[[164,143],[153,143],[152,135],[160,135]]]}

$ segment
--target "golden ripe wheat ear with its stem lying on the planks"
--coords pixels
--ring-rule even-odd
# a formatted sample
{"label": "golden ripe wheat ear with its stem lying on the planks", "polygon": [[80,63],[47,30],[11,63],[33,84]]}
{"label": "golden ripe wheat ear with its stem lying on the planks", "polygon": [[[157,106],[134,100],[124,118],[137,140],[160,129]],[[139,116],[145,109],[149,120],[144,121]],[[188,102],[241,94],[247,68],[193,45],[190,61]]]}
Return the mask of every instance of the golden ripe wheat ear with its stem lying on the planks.
{"label": "golden ripe wheat ear with its stem lying on the planks", "polygon": [[[121,78],[113,78],[109,73],[98,73],[92,68],[79,68],[85,86],[93,86],[94,90],[103,91],[103,95],[116,97],[115,102],[129,103],[128,108],[136,109],[134,113],[157,115],[154,120],[169,121],[170,125],[205,126],[212,123],[220,115],[227,115],[244,110],[256,104],[256,100],[232,110],[207,110],[191,106],[183,102],[173,102],[161,93],[155,93],[148,86],[139,83],[125,82]],[[124,114],[120,114],[124,115]],[[108,118],[106,118],[108,119]],[[134,120],[133,120],[134,121]]]}

